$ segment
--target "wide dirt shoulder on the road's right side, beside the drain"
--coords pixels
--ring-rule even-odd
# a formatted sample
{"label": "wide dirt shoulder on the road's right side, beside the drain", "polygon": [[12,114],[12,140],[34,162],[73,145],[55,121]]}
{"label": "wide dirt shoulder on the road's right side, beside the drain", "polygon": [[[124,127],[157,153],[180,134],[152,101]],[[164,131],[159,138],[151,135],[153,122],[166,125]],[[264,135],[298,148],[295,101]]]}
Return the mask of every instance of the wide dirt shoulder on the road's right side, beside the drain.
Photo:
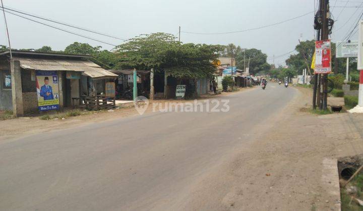
{"label": "wide dirt shoulder on the road's right side, beside the drain", "polygon": [[363,152],[363,116],[302,113],[312,92],[296,88],[271,130],[196,185],[184,210],[339,210],[327,161]]}

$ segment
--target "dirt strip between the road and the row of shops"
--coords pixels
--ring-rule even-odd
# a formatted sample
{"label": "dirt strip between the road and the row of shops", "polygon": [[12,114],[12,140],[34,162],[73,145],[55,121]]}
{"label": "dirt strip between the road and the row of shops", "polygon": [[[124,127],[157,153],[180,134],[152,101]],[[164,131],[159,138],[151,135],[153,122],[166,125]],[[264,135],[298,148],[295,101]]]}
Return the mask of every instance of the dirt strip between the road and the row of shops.
{"label": "dirt strip between the road and the row of shops", "polygon": [[[241,88],[237,92],[227,92],[218,95],[204,95],[201,96],[198,100],[205,100],[211,98],[219,98],[231,94],[235,94],[241,91],[249,91],[253,90],[253,88]],[[155,102],[165,103],[165,102],[193,102],[194,100],[155,100]],[[151,113],[152,107],[149,106],[145,111],[146,114]],[[138,116],[139,113],[134,108],[133,104],[130,104],[126,107],[114,109],[112,112],[108,111],[100,111],[95,112],[89,115],[81,115],[77,117],[69,117],[62,119],[54,119],[54,120],[41,120],[39,117],[23,117],[16,118],[10,120],[0,121],[0,142],[4,141],[12,141],[17,138],[26,137],[29,135],[49,132],[59,129],[68,129],[79,127],[92,123],[99,123],[104,121],[112,121],[119,118],[127,118]]]}

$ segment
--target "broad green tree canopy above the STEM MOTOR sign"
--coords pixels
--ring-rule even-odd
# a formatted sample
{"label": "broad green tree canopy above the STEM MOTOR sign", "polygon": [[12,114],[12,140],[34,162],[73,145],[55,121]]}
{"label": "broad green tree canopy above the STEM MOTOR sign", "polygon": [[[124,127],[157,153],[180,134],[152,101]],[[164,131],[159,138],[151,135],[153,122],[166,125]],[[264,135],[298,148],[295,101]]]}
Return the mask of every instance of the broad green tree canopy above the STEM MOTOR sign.
{"label": "broad green tree canopy above the STEM MOTOR sign", "polygon": [[140,35],[116,47],[119,68],[167,71],[176,78],[211,78],[216,68],[212,61],[223,46],[182,44],[171,34]]}

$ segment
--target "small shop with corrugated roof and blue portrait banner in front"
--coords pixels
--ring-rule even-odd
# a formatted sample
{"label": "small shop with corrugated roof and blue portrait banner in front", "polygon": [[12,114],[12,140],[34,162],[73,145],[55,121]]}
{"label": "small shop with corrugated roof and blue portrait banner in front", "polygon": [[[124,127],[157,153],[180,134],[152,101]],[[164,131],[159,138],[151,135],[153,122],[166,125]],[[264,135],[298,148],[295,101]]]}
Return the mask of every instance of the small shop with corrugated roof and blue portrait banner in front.
{"label": "small shop with corrugated roof and blue portrait banner in front", "polygon": [[0,110],[15,116],[60,110],[72,98],[105,92],[116,74],[89,59],[92,56],[29,51],[0,52]]}

